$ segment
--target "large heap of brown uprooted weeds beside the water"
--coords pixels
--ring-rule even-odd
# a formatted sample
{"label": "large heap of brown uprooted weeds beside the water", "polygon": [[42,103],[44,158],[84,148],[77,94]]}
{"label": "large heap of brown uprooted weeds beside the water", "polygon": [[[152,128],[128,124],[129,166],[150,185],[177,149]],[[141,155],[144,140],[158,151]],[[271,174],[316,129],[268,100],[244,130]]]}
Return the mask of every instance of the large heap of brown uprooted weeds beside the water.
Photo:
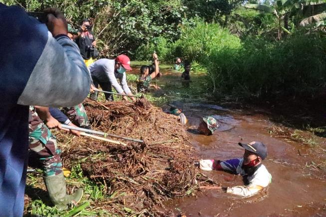
{"label": "large heap of brown uprooted weeds beside the water", "polygon": [[[124,146],[79,137],[63,146],[65,167],[80,164],[85,176],[104,184],[108,197],[97,206],[122,215],[126,214],[123,208],[128,208],[128,214],[164,215],[159,211],[164,201],[195,194],[194,150],[176,116],[144,98],[135,103],[103,104],[87,99],[84,107],[93,130],[144,140],[136,143],[107,137],[126,143]],[[63,144],[69,140],[57,138]]]}

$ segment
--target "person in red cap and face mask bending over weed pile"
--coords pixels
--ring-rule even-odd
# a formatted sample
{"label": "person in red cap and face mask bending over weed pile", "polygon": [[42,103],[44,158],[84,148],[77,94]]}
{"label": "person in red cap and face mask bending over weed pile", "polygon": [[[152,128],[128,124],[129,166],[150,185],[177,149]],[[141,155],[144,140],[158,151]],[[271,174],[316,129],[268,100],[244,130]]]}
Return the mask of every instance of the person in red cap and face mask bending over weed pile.
{"label": "person in red cap and face mask bending over weed pile", "polygon": [[[135,97],[132,96],[131,90],[128,87],[126,80],[126,71],[131,70],[130,59],[126,55],[119,55],[115,59],[99,59],[88,67],[93,84],[96,88],[101,86],[102,90],[112,92],[112,86],[118,93],[129,95],[132,101],[136,102]],[[120,80],[120,84],[117,81]],[[105,99],[113,101],[113,95],[104,93]],[[97,100],[97,91],[90,94],[90,98]],[[122,97],[128,101],[126,96]]]}

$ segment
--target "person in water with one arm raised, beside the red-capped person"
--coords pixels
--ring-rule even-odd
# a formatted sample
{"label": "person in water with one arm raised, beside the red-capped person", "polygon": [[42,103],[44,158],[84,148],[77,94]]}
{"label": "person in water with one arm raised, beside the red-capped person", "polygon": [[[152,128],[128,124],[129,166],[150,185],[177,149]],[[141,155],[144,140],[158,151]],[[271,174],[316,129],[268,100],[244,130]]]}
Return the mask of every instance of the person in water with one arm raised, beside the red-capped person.
{"label": "person in water with one arm raised, beside the red-capped person", "polygon": [[155,89],[159,89],[156,85],[150,85],[150,82],[153,78],[155,78],[159,74],[159,68],[158,68],[158,58],[157,54],[153,53],[153,59],[155,64],[155,72],[152,74],[149,74],[149,67],[146,65],[141,66],[140,68],[140,77],[137,81],[137,92],[147,92],[148,88],[150,86],[154,87]]}

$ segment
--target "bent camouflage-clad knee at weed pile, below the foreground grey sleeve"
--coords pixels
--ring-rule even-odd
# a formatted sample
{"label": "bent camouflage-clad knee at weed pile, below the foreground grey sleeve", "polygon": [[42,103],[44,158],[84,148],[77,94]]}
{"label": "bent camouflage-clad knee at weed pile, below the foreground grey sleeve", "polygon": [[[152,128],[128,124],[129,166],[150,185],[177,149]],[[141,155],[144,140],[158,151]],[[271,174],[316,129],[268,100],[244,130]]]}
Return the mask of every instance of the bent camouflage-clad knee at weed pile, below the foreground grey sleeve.
{"label": "bent camouflage-clad knee at weed pile, below the foreground grey sleeve", "polygon": [[69,120],[78,127],[88,127],[88,117],[86,114],[86,110],[83,104],[78,104],[73,107],[63,108],[65,113],[68,115]]}

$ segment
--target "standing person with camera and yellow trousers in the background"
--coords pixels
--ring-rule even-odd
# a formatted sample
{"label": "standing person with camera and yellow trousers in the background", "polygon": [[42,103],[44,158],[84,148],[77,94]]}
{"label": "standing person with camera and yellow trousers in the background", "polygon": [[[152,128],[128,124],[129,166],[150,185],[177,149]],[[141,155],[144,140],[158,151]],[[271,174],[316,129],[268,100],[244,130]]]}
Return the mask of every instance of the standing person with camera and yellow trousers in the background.
{"label": "standing person with camera and yellow trousers in the background", "polygon": [[81,30],[78,32],[78,37],[75,39],[79,47],[80,55],[84,59],[86,66],[90,66],[98,56],[96,50],[96,40],[91,32],[91,25],[88,19],[84,19],[81,23]]}

